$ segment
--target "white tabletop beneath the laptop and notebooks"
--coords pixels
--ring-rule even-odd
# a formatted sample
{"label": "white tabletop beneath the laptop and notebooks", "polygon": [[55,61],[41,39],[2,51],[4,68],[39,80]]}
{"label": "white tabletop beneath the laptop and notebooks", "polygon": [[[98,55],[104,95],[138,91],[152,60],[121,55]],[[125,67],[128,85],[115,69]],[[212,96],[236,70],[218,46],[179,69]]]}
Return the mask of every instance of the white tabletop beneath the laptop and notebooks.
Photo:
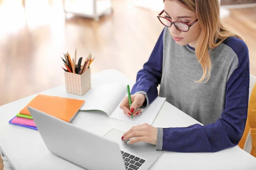
{"label": "white tabletop beneath the laptop and notebooks", "polygon": [[[94,74],[92,77],[92,86],[99,83],[99,79],[103,82],[132,82],[123,74],[113,70]],[[41,94],[47,94],[56,88],[44,91]],[[0,107],[0,153],[4,155],[2,158],[4,160],[5,170],[82,170],[81,167],[50,153],[37,130],[10,125],[8,123],[35,95]],[[106,114],[96,111],[79,112],[71,123],[101,136],[111,128],[118,127],[118,129],[125,132],[133,126],[131,123],[124,123],[108,118]],[[195,123],[199,122],[168,102],[165,102],[153,126],[186,127]],[[256,158],[238,146],[216,153],[175,153],[165,151],[151,169],[256,170]]]}

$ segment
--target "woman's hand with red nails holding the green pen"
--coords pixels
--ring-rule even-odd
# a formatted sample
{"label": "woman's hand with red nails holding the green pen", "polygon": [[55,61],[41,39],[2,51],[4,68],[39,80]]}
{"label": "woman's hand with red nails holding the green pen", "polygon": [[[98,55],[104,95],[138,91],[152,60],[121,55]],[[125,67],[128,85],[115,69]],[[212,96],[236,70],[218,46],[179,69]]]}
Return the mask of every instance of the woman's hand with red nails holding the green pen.
{"label": "woman's hand with red nails holding the green pen", "polygon": [[120,105],[120,109],[123,110],[124,114],[127,116],[131,116],[131,113],[133,113],[133,116],[138,116],[142,109],[138,109],[140,108],[143,103],[145,101],[145,94],[133,94],[131,95],[131,110],[129,110],[129,100],[128,100],[128,96],[125,96],[124,99],[121,102]]}

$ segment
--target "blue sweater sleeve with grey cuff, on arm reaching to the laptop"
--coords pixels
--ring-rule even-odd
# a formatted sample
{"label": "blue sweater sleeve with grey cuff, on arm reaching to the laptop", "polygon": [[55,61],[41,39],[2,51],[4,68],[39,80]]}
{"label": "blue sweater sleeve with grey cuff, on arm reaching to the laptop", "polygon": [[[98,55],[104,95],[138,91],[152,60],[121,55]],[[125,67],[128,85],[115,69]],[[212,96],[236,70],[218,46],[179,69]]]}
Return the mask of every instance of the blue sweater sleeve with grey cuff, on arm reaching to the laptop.
{"label": "blue sweater sleeve with grey cuff, on arm reaching to the laptop", "polygon": [[157,150],[217,152],[239,143],[247,119],[250,71],[246,44],[240,41],[235,52],[239,63],[227,81],[221,118],[209,125],[157,128]]}

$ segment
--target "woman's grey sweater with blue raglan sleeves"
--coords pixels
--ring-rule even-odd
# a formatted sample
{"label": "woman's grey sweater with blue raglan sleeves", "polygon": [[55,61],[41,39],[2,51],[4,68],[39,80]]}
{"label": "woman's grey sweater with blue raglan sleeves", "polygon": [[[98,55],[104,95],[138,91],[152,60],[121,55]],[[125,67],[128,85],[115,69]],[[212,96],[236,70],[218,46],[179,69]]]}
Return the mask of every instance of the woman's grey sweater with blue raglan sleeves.
{"label": "woman's grey sweater with blue raglan sleeves", "polygon": [[[177,45],[164,28],[148,61],[137,74],[131,94],[146,96],[145,105],[159,95],[203,125],[157,127],[158,150],[216,152],[236,146],[244,132],[249,97],[247,45],[229,37],[210,52],[211,77],[202,77],[195,49]],[[158,94],[157,86],[160,85]]]}

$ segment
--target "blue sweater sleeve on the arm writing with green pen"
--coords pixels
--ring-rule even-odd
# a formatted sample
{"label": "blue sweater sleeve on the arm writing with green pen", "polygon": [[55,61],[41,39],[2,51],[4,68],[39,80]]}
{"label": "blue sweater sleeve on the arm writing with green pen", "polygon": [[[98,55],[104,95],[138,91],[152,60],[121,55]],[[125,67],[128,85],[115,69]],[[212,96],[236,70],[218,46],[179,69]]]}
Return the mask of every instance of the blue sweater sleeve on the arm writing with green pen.
{"label": "blue sweater sleeve on the arm writing with green pen", "polygon": [[[164,30],[163,30],[164,31]],[[163,31],[143,68],[138,71],[136,83],[131,94],[145,94],[143,105],[148,106],[158,96],[157,86],[160,84],[163,68]]]}

